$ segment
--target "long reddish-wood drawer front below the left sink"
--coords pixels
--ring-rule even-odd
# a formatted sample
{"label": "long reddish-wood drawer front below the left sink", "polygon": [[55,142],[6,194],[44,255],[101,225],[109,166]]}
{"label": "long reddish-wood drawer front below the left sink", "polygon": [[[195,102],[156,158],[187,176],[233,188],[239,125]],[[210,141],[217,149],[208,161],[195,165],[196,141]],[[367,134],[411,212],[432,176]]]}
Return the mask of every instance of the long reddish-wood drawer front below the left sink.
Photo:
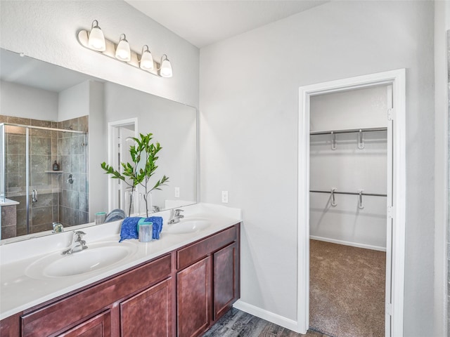
{"label": "long reddish-wood drawer front below the left sink", "polygon": [[171,270],[171,256],[163,256],[24,315],[20,318],[22,336],[42,337],[63,331],[117,300],[169,277]]}

